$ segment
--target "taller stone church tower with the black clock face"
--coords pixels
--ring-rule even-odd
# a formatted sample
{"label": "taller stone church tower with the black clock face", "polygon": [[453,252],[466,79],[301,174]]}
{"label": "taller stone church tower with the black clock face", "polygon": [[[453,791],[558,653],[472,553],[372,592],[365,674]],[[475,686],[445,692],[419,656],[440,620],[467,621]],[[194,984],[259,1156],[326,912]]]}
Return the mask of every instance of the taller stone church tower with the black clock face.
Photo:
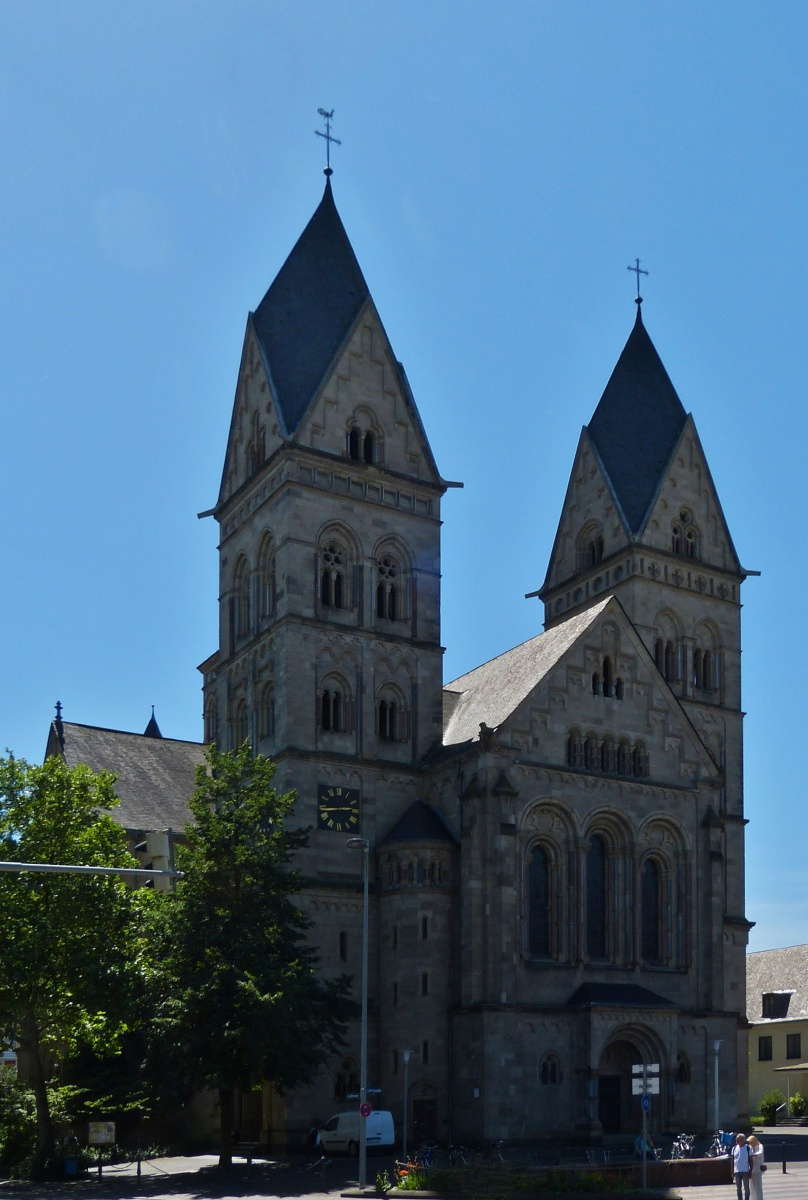
{"label": "taller stone church tower with the black clock face", "polygon": [[[421,757],[441,740],[447,486],[329,170],[247,318],[209,514],[221,530],[220,644],[200,667],[207,740],[249,738],[271,755],[277,787],[297,790],[295,818],[312,827],[300,902],[325,973],[360,976],[361,856],[346,840],[375,846],[394,828],[418,798]],[[376,990],[371,978],[371,1001]],[[275,1133],[328,1116],[358,1070],[358,1038],[349,1043],[342,1084],[292,1098],[306,1110],[270,1115]],[[376,1052],[371,1027],[370,1085]]]}

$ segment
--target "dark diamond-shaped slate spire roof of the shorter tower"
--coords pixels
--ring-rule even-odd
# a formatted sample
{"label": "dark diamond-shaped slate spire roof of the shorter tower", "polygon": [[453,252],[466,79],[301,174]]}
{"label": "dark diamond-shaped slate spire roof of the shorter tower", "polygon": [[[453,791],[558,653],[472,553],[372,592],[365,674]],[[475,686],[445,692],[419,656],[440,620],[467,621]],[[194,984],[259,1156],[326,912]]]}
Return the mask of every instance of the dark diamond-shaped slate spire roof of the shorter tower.
{"label": "dark diamond-shaped slate spire roof of the shorter tower", "polygon": [[587,428],[632,533],[642,528],[687,413],[636,320]]}

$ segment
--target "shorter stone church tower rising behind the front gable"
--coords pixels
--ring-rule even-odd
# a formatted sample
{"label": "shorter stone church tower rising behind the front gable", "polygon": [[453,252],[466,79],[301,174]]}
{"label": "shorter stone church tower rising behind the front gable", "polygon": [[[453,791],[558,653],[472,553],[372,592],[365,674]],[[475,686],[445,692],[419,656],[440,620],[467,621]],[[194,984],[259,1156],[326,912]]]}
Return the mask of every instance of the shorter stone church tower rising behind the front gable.
{"label": "shorter stone church tower rising behind the front gable", "polygon": [[[699,919],[714,931],[704,996],[712,1008],[732,1008],[744,994],[741,584],[749,574],[638,299],[634,329],[581,431],[538,594],[547,629],[616,596],[719,767],[705,816],[713,878],[699,881],[698,899]],[[624,667],[593,661],[593,692],[615,695]],[[746,1096],[740,1111],[744,1104]]]}

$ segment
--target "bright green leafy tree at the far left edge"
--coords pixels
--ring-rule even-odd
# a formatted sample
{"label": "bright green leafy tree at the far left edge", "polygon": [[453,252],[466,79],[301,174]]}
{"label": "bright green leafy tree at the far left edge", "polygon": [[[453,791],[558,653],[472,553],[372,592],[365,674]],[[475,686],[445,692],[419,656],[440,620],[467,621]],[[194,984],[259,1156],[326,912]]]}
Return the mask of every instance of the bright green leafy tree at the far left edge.
{"label": "bright green leafy tree at the far left edge", "polygon": [[[108,773],[0,758],[0,859],[137,866],[100,811],[116,804]],[[18,1044],[30,1074],[40,1164],[53,1148],[48,1084],[60,1064],[79,1046],[115,1050],[126,1030],[145,895],[114,876],[0,872],[0,1038]]]}

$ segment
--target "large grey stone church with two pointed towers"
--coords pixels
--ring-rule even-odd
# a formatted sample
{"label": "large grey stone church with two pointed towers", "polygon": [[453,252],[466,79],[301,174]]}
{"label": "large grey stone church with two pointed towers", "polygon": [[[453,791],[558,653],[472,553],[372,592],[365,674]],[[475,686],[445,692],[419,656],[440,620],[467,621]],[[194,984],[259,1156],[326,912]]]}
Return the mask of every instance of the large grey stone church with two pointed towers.
{"label": "large grey stone church with two pointed towers", "polygon": [[[575,450],[533,594],[545,631],[444,684],[451,486],[327,172],[247,318],[203,514],[220,527],[204,740],[249,739],[297,791],[312,827],[299,902],[322,970],[357,992],[363,856],[347,839],[367,839],[367,1082],[400,1122],[407,1055],[413,1136],[634,1134],[641,1063],[659,1068],[652,1133],[704,1129],[716,1043],[732,1128],[748,1091],[748,572],[641,302]],[[54,752],[76,738],[92,764],[86,727],[60,721],[60,751],[55,725]],[[252,1133],[293,1144],[354,1108],[358,1080],[359,1022],[312,1088],[268,1082]]]}

